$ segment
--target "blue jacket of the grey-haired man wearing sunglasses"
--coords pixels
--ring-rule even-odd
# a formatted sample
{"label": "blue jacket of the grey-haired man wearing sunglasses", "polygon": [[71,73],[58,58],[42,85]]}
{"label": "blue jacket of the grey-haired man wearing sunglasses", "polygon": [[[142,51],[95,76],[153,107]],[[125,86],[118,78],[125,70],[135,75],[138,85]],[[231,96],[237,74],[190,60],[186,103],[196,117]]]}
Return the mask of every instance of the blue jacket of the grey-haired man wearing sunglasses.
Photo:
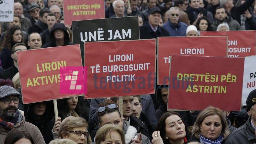
{"label": "blue jacket of the grey-haired man wearing sunglasses", "polygon": [[187,24],[179,20],[178,24],[173,25],[170,20],[163,24],[163,28],[169,31],[170,36],[186,36]]}

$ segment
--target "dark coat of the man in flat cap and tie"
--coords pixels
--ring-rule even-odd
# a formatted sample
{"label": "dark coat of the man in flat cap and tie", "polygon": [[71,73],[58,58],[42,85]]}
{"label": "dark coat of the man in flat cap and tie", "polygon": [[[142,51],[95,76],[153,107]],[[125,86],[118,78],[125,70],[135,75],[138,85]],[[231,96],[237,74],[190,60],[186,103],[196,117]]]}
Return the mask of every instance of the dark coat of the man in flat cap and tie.
{"label": "dark coat of the man in flat cap and tie", "polygon": [[157,31],[154,32],[151,29],[149,23],[139,27],[139,38],[140,39],[157,38],[159,36],[169,36],[169,32],[160,26],[158,26]]}

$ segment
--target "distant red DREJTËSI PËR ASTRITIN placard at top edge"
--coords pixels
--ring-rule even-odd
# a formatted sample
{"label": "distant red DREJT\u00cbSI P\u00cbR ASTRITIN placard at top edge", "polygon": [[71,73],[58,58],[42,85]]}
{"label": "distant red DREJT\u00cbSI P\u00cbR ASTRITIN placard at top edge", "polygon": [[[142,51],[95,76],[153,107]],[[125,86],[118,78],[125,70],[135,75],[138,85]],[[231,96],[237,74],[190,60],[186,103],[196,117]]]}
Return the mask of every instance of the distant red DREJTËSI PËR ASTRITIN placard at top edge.
{"label": "distant red DREJT\u00cbSI P\u00cbR ASTRITIN placard at top edge", "polygon": [[72,21],[105,18],[104,0],[63,0],[65,25]]}

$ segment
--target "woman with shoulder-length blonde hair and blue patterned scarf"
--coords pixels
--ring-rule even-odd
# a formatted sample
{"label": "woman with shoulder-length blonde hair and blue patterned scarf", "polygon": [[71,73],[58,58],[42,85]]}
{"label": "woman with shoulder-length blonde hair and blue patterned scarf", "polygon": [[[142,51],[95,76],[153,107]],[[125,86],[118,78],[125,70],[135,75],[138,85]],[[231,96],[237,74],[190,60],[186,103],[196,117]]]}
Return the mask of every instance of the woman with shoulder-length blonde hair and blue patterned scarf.
{"label": "woman with shoulder-length blonde hair and blue patterned scarf", "polygon": [[209,106],[197,116],[191,135],[193,140],[202,144],[224,144],[229,133],[222,111]]}

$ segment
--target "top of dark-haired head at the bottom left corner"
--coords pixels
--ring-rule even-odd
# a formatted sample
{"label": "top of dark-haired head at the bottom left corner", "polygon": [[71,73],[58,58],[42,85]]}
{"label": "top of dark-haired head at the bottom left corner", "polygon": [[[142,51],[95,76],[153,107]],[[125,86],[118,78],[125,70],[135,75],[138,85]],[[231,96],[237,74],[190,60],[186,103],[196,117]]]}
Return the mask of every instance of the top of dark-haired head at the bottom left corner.
{"label": "top of dark-haired head at the bottom left corner", "polygon": [[4,144],[34,144],[34,141],[26,131],[11,131],[6,135]]}

